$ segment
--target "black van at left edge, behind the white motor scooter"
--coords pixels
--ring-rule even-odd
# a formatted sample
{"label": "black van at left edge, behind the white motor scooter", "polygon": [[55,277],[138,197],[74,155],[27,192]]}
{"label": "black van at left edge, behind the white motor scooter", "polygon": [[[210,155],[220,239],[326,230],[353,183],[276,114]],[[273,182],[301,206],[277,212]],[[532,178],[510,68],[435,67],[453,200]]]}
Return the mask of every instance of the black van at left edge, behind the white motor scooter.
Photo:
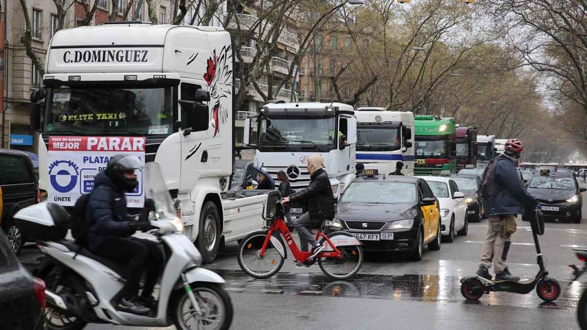
{"label": "black van at left edge, behind the white motor scooter", "polygon": [[40,198],[33,164],[26,153],[0,149],[0,188],[4,205],[0,227],[5,231],[12,250],[19,254],[26,237],[12,217],[21,208],[39,203]]}

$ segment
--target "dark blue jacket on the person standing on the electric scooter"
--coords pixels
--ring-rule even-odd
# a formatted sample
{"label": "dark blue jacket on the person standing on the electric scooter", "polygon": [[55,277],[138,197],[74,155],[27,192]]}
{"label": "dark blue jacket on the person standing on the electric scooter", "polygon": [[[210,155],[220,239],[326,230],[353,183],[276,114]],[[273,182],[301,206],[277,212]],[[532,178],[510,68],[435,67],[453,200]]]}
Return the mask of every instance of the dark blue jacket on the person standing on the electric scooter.
{"label": "dark blue jacket on the person standing on the electric scooter", "polygon": [[524,214],[524,207],[538,204],[522,186],[514,161],[504,155],[496,161],[493,178],[501,188],[497,194],[483,198],[485,215]]}

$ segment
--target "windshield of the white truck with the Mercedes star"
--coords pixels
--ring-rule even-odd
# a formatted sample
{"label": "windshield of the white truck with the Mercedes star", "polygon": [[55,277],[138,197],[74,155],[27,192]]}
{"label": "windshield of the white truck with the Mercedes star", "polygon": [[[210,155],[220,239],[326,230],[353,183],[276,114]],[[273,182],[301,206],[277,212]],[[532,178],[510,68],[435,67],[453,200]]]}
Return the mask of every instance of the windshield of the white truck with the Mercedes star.
{"label": "windshield of the white truck with the Mercedes star", "polygon": [[[333,147],[336,139],[335,118],[321,119],[268,119],[259,122],[259,146],[312,147],[319,150],[320,146]],[[339,132],[338,135],[344,134]]]}

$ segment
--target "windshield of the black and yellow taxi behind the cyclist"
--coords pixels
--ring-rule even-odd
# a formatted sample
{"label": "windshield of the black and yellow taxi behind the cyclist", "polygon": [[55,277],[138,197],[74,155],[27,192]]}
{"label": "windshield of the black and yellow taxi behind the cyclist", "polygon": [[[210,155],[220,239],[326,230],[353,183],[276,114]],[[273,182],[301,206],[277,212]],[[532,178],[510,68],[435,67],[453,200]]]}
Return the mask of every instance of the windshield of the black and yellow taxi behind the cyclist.
{"label": "windshield of the black and yellow taxi behind the cyclist", "polygon": [[416,184],[355,181],[346,188],[340,203],[416,204]]}

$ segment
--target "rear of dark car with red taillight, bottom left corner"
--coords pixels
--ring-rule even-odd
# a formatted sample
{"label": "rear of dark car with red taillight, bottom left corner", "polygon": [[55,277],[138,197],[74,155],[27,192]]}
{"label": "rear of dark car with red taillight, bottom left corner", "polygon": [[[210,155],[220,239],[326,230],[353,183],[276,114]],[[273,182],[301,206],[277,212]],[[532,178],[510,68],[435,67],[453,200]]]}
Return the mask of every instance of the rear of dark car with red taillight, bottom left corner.
{"label": "rear of dark car with red taillight, bottom left corner", "polygon": [[0,231],[0,329],[44,329],[45,282],[32,277]]}

